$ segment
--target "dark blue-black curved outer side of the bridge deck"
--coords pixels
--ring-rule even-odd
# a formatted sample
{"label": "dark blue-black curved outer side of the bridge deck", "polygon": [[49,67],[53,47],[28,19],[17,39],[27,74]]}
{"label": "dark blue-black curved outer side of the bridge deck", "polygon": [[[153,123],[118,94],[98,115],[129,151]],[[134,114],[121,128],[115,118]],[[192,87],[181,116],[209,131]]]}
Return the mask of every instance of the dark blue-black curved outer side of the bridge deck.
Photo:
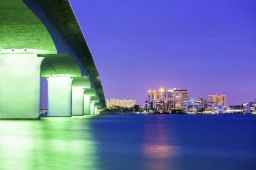
{"label": "dark blue-black curved outer side of the bridge deck", "polygon": [[90,79],[91,87],[99,96],[99,102],[105,107],[104,91],[98,70],[69,1],[23,0],[23,2],[44,24],[54,41],[57,52],[68,54],[76,60],[82,76]]}

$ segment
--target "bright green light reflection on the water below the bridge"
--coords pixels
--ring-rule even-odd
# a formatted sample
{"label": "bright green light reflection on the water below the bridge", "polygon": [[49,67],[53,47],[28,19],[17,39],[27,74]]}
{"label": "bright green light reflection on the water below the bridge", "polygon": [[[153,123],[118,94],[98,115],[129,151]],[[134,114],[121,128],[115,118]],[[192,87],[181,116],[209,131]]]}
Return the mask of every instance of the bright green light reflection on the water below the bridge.
{"label": "bright green light reflection on the water below the bridge", "polygon": [[0,121],[0,169],[100,169],[90,118]]}

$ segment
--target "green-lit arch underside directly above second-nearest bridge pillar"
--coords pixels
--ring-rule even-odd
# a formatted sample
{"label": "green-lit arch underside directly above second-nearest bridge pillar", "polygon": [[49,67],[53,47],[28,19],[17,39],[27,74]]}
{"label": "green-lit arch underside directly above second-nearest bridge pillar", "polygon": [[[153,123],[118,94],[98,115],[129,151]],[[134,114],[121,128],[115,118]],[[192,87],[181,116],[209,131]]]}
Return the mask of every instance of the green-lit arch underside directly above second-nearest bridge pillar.
{"label": "green-lit arch underside directly above second-nearest bridge pillar", "polygon": [[41,77],[53,75],[81,76],[79,65],[68,54],[40,54],[38,57],[44,57],[41,64]]}

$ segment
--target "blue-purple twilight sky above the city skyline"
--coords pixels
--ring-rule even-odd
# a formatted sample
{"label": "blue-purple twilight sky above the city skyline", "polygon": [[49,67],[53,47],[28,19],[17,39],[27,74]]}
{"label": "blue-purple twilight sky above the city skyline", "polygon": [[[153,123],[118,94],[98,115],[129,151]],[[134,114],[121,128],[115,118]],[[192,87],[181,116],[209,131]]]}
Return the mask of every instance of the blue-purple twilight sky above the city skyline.
{"label": "blue-purple twilight sky above the city skyline", "polygon": [[153,88],[256,97],[255,0],[71,0],[105,97],[142,104]]}

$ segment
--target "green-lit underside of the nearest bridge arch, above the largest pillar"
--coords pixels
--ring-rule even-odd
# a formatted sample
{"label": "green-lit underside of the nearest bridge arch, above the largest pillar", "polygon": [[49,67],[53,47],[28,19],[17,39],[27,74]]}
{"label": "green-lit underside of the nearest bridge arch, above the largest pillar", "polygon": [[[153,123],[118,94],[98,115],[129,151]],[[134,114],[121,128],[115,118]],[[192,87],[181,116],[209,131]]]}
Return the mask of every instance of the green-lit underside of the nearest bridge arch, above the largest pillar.
{"label": "green-lit underside of the nearest bridge arch, above the largest pillar", "polygon": [[23,1],[1,1],[0,16],[0,54],[8,54],[5,49],[34,49],[35,54],[57,53],[48,30]]}

